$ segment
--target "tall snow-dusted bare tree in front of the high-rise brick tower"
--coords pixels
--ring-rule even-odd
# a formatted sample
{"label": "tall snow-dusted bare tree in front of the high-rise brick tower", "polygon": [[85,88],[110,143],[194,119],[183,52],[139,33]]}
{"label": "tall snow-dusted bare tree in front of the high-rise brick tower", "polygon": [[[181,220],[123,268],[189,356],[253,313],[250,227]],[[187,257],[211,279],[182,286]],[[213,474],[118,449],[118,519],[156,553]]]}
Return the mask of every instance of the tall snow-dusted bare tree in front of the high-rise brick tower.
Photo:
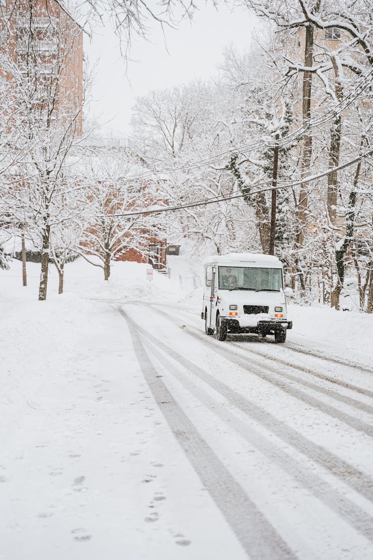
{"label": "tall snow-dusted bare tree in front of the high-rise brick tower", "polygon": [[25,225],[41,250],[39,300],[45,300],[51,232],[60,220],[60,201],[75,188],[68,156],[81,135],[83,87],[72,70],[81,28],[59,4],[46,4],[44,16],[40,13],[33,2],[10,4],[11,40],[2,45],[2,68],[16,108],[8,119],[16,131],[17,166],[7,177],[7,197],[15,223]]}

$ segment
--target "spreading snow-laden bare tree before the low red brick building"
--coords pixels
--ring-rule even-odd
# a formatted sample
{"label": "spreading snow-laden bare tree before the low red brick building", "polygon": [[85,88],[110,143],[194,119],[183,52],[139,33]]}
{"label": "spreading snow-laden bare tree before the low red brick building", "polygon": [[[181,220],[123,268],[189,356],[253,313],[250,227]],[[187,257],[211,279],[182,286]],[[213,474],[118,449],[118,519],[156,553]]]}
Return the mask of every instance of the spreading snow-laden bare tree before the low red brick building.
{"label": "spreading snow-laden bare tree before the low red brick building", "polygon": [[162,195],[152,181],[126,179],[134,170],[134,158],[124,150],[101,148],[83,161],[81,178],[84,174],[89,206],[79,254],[102,268],[108,280],[112,260],[124,260],[126,255],[147,258],[150,230],[152,236],[159,232],[154,217],[123,214],[162,204]]}

